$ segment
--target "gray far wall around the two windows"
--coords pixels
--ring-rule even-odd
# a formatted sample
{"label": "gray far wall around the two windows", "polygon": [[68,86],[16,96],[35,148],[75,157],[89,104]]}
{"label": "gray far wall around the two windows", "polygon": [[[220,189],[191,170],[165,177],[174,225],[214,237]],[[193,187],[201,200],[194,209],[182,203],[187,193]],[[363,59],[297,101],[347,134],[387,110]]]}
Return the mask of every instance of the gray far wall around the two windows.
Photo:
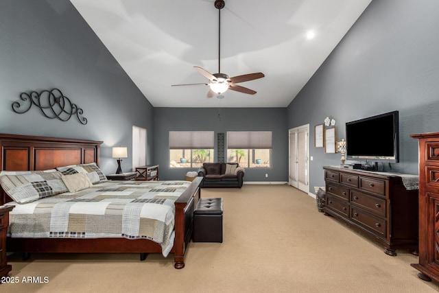
{"label": "gray far wall around the two windows", "polygon": [[[221,118],[221,119],[219,119]],[[286,108],[154,108],[154,163],[160,164],[162,180],[183,179],[195,169],[169,168],[169,131],[210,130],[272,131],[272,168],[246,169],[244,181],[283,181],[288,179],[288,130]],[[268,178],[265,178],[268,173]]]}

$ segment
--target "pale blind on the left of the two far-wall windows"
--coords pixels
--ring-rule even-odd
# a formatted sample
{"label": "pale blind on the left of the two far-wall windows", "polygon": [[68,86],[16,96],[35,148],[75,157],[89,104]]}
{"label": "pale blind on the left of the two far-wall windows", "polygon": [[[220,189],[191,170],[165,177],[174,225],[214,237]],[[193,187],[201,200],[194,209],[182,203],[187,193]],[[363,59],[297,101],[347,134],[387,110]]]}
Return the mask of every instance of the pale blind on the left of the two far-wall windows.
{"label": "pale blind on the left of the two far-wall windows", "polygon": [[169,149],[213,149],[213,131],[169,131]]}

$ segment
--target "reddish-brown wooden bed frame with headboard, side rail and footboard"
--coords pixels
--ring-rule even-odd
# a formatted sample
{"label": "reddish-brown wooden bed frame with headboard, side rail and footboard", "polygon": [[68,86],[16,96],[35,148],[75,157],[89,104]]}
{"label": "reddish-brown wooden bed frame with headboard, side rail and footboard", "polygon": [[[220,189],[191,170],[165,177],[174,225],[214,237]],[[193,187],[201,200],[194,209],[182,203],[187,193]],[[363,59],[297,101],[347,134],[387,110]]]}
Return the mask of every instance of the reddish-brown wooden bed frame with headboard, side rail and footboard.
{"label": "reddish-brown wooden bed frame with headboard, side rail and footboard", "polygon": [[[99,163],[102,141],[29,137],[0,134],[0,171],[43,170],[80,163]],[[200,198],[202,178],[195,178],[176,200],[174,267],[185,267],[185,253],[191,240],[193,209]],[[10,202],[0,190],[0,205]],[[161,246],[148,239],[100,238],[12,238],[7,239],[10,252],[21,253],[161,253]]]}

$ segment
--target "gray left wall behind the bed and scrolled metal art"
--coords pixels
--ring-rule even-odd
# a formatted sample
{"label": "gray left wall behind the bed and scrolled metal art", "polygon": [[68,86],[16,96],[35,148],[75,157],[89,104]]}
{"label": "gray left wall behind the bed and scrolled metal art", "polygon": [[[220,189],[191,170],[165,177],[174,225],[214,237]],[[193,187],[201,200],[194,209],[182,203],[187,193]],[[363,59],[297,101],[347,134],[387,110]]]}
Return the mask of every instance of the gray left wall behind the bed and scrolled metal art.
{"label": "gray left wall behind the bed and scrolled metal art", "polygon": [[[0,0],[0,132],[104,141],[101,167],[116,170],[111,147],[132,147],[132,126],[147,128],[152,105],[67,0]],[[38,108],[12,111],[22,92],[58,88],[84,110],[88,124],[47,119]],[[147,160],[151,161],[152,143]],[[123,170],[132,168],[131,159]]]}

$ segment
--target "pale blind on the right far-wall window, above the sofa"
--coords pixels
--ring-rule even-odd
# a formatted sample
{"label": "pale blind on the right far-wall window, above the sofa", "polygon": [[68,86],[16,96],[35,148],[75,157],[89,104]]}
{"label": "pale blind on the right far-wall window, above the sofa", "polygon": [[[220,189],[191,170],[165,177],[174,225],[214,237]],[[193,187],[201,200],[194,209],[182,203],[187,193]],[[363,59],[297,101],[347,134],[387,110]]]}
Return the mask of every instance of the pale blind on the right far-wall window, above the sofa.
{"label": "pale blind on the right far-wall window, above the sofa", "polygon": [[227,148],[229,149],[271,149],[271,131],[228,131]]}

